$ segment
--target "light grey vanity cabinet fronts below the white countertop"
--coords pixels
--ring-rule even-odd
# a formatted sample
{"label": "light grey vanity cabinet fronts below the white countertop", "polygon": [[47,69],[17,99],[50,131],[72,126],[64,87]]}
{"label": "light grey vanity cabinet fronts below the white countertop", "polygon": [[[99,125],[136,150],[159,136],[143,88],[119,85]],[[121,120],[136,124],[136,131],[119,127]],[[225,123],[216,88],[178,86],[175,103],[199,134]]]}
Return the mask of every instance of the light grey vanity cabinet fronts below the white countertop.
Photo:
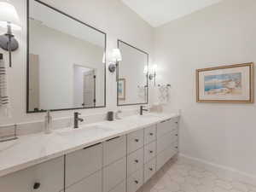
{"label": "light grey vanity cabinet fronts below the white countertop", "polygon": [[136,192],[178,152],[178,118],[0,177],[2,192]]}

